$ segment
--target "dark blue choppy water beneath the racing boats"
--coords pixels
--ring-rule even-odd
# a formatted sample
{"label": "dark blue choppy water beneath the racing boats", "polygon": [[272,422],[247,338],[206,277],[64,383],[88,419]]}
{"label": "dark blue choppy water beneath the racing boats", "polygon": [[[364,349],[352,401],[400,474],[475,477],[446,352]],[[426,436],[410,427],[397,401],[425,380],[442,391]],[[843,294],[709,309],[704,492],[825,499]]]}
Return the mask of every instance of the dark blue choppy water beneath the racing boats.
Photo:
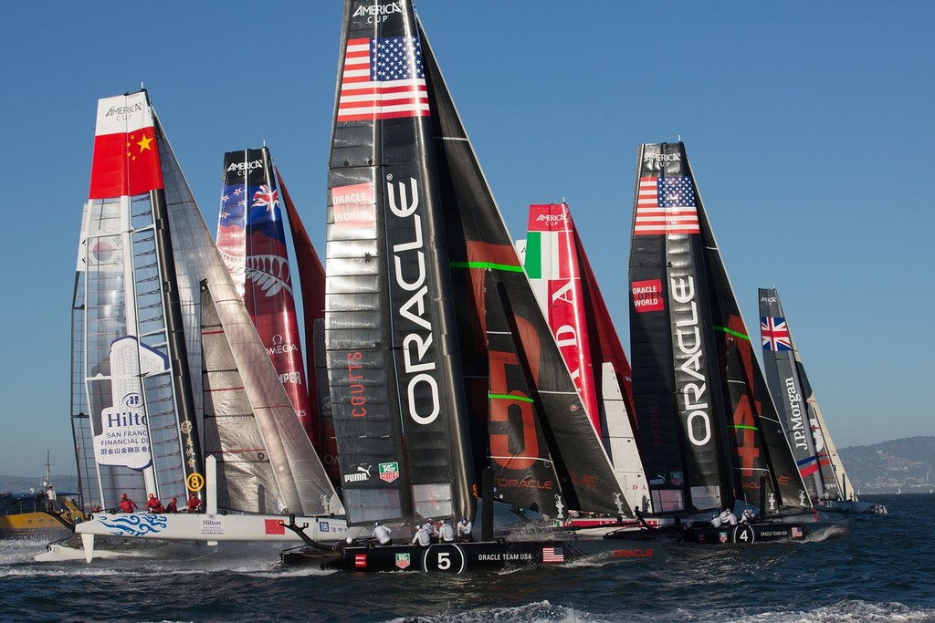
{"label": "dark blue choppy water beneath the racing boats", "polygon": [[669,559],[511,573],[285,570],[279,545],[40,563],[0,541],[0,621],[935,621],[935,495],[873,496],[805,543],[669,545]]}

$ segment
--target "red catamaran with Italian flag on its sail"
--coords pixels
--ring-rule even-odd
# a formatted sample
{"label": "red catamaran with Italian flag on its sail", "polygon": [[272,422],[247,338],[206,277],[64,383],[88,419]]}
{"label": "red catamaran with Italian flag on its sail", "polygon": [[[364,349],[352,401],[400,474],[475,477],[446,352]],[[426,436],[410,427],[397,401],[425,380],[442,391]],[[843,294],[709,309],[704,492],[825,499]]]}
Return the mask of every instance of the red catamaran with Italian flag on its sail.
{"label": "red catamaran with Italian flag on its sail", "polygon": [[[651,510],[636,440],[629,362],[568,204],[530,205],[524,267],[626,502]],[[616,523],[571,517],[568,525]]]}

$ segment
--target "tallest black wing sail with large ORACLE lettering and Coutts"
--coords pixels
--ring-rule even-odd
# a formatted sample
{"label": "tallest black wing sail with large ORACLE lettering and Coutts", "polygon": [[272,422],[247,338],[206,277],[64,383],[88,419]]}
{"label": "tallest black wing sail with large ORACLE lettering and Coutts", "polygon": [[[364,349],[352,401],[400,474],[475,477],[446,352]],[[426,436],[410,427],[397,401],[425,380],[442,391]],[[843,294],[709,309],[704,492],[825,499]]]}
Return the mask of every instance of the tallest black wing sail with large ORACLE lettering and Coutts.
{"label": "tallest black wing sail with large ORACLE lettering and Coutts", "polygon": [[340,45],[324,339],[348,522],[473,517],[424,47],[409,3],[348,0]]}

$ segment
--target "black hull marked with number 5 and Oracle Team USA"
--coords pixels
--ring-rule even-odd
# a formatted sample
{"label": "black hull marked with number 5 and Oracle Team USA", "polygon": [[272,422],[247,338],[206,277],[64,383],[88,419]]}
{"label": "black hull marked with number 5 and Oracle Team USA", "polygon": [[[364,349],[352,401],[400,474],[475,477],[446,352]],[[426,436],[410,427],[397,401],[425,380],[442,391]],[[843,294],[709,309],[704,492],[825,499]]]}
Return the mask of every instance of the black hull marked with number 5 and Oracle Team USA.
{"label": "black hull marked with number 5 and Oracle Team USA", "polygon": [[499,571],[525,565],[562,566],[572,562],[663,561],[659,545],[629,541],[485,541],[477,543],[386,545],[345,547],[339,558],[324,559],[321,553],[286,550],[281,560],[287,566],[320,564],[323,569],[359,572],[419,571],[465,573]]}

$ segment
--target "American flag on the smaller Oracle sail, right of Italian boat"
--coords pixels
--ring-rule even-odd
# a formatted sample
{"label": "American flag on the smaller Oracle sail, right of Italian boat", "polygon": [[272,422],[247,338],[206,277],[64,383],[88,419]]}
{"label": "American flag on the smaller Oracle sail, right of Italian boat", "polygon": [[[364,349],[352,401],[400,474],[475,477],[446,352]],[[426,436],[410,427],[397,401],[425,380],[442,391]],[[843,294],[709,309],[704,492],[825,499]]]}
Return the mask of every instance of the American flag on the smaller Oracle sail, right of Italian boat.
{"label": "American flag on the smaller Oracle sail, right of Italian boat", "polygon": [[633,234],[698,233],[698,206],[691,177],[640,177]]}

